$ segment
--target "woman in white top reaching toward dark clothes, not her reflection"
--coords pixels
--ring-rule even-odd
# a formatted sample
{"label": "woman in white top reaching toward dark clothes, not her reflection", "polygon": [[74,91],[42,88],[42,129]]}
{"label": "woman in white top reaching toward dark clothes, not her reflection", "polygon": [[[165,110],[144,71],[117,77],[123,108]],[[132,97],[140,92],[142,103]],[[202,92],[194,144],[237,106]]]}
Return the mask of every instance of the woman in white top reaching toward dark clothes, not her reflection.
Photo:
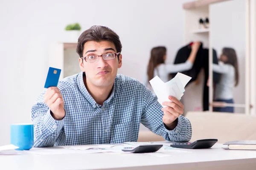
{"label": "woman in white top reaching toward dark clothes, not her reflection", "polygon": [[195,62],[197,51],[201,42],[194,42],[191,46],[191,53],[184,63],[166,64],[166,47],[159,46],[151,49],[151,56],[148,62],[147,76],[145,77],[145,85],[152,90],[149,80],[158,76],[163,82],[169,81],[170,73],[177,73],[190,70]]}

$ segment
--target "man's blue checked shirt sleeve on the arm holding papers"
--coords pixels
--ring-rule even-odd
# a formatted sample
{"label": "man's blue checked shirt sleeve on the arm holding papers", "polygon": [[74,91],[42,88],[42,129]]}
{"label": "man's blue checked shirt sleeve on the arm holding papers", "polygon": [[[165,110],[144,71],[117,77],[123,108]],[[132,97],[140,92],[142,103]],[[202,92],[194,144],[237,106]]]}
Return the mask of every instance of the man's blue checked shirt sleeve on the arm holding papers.
{"label": "man's blue checked shirt sleeve on the arm holding papers", "polygon": [[163,136],[167,141],[188,142],[192,136],[192,127],[189,120],[179,116],[175,129],[167,130],[163,124],[162,106],[157,101],[157,96],[147,89],[144,92],[144,109],[141,123],[153,133]]}

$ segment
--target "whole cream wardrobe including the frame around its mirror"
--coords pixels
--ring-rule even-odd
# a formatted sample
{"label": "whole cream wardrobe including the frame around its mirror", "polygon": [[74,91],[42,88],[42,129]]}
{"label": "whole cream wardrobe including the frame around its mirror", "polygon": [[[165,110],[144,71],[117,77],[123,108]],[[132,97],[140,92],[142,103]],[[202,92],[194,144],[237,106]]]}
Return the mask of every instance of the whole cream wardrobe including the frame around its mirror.
{"label": "whole cream wardrobe including the frame around its mirror", "polygon": [[[210,14],[212,13],[210,7],[213,3],[221,3],[224,1],[231,1],[231,0],[194,0],[189,3],[183,4],[183,9],[185,10],[185,32],[184,32],[184,44],[188,44],[192,41],[201,41],[203,42],[203,48],[209,48],[209,111],[212,111],[212,100],[213,100],[213,87],[212,87],[212,44],[211,39],[212,30],[211,30],[211,17]],[[252,87],[252,83],[256,84],[256,77],[255,77],[255,57],[252,57],[251,54],[255,54],[254,47],[252,48],[251,44],[255,44],[255,36],[254,41],[250,40],[250,34],[255,35],[255,31],[251,31],[251,28],[255,28],[255,1],[254,0],[245,0],[246,3],[246,48],[245,48],[245,113],[256,115],[254,113],[256,111],[256,90],[255,86]],[[253,6],[253,9],[252,7]],[[203,20],[208,17],[209,18],[209,28],[201,28],[199,19],[202,18]],[[254,25],[253,25],[253,24]],[[216,26],[216,25],[215,25]],[[255,30],[255,29],[254,29]],[[252,43],[253,42],[253,43]],[[250,63],[253,61],[253,63]],[[253,65],[249,67],[249,65]],[[250,74],[253,72],[253,75]],[[198,75],[198,80],[190,83],[186,87],[186,93],[183,96],[183,105],[186,105],[184,113],[187,111],[200,111],[202,109],[202,99],[203,99],[203,88],[204,88],[204,74],[201,72]],[[253,94],[250,94],[253,92]],[[252,96],[253,95],[253,96]],[[237,104],[237,103],[236,103]],[[239,103],[240,104],[240,103]],[[253,107],[250,108],[250,105]],[[234,105],[235,106],[235,105]],[[236,106],[235,106],[236,107]],[[202,111],[202,110],[201,110]]]}

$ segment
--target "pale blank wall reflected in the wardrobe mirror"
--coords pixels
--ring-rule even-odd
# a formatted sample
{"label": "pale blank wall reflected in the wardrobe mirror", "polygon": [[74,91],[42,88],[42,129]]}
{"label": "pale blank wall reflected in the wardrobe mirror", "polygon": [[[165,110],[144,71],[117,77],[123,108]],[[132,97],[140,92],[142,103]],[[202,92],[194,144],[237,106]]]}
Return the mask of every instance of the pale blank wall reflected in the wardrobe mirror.
{"label": "pale blank wall reflected in the wardrobe mirror", "polygon": [[[235,104],[245,104],[245,0],[230,0],[210,6],[211,43],[218,57],[223,47],[236,50],[239,62],[239,85],[234,88]],[[245,113],[244,108],[235,112]]]}

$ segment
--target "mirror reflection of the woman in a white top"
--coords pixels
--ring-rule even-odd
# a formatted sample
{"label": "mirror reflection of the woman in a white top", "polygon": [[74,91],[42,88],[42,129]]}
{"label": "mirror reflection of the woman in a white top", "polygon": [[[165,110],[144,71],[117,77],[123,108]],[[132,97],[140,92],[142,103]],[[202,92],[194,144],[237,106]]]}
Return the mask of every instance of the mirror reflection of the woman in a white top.
{"label": "mirror reflection of the woman in a white top", "polygon": [[[213,64],[212,70],[221,74],[221,79],[215,86],[214,101],[234,103],[233,88],[239,82],[238,62],[233,48],[223,48],[219,64]],[[214,107],[213,111],[234,112],[233,107]]]}

